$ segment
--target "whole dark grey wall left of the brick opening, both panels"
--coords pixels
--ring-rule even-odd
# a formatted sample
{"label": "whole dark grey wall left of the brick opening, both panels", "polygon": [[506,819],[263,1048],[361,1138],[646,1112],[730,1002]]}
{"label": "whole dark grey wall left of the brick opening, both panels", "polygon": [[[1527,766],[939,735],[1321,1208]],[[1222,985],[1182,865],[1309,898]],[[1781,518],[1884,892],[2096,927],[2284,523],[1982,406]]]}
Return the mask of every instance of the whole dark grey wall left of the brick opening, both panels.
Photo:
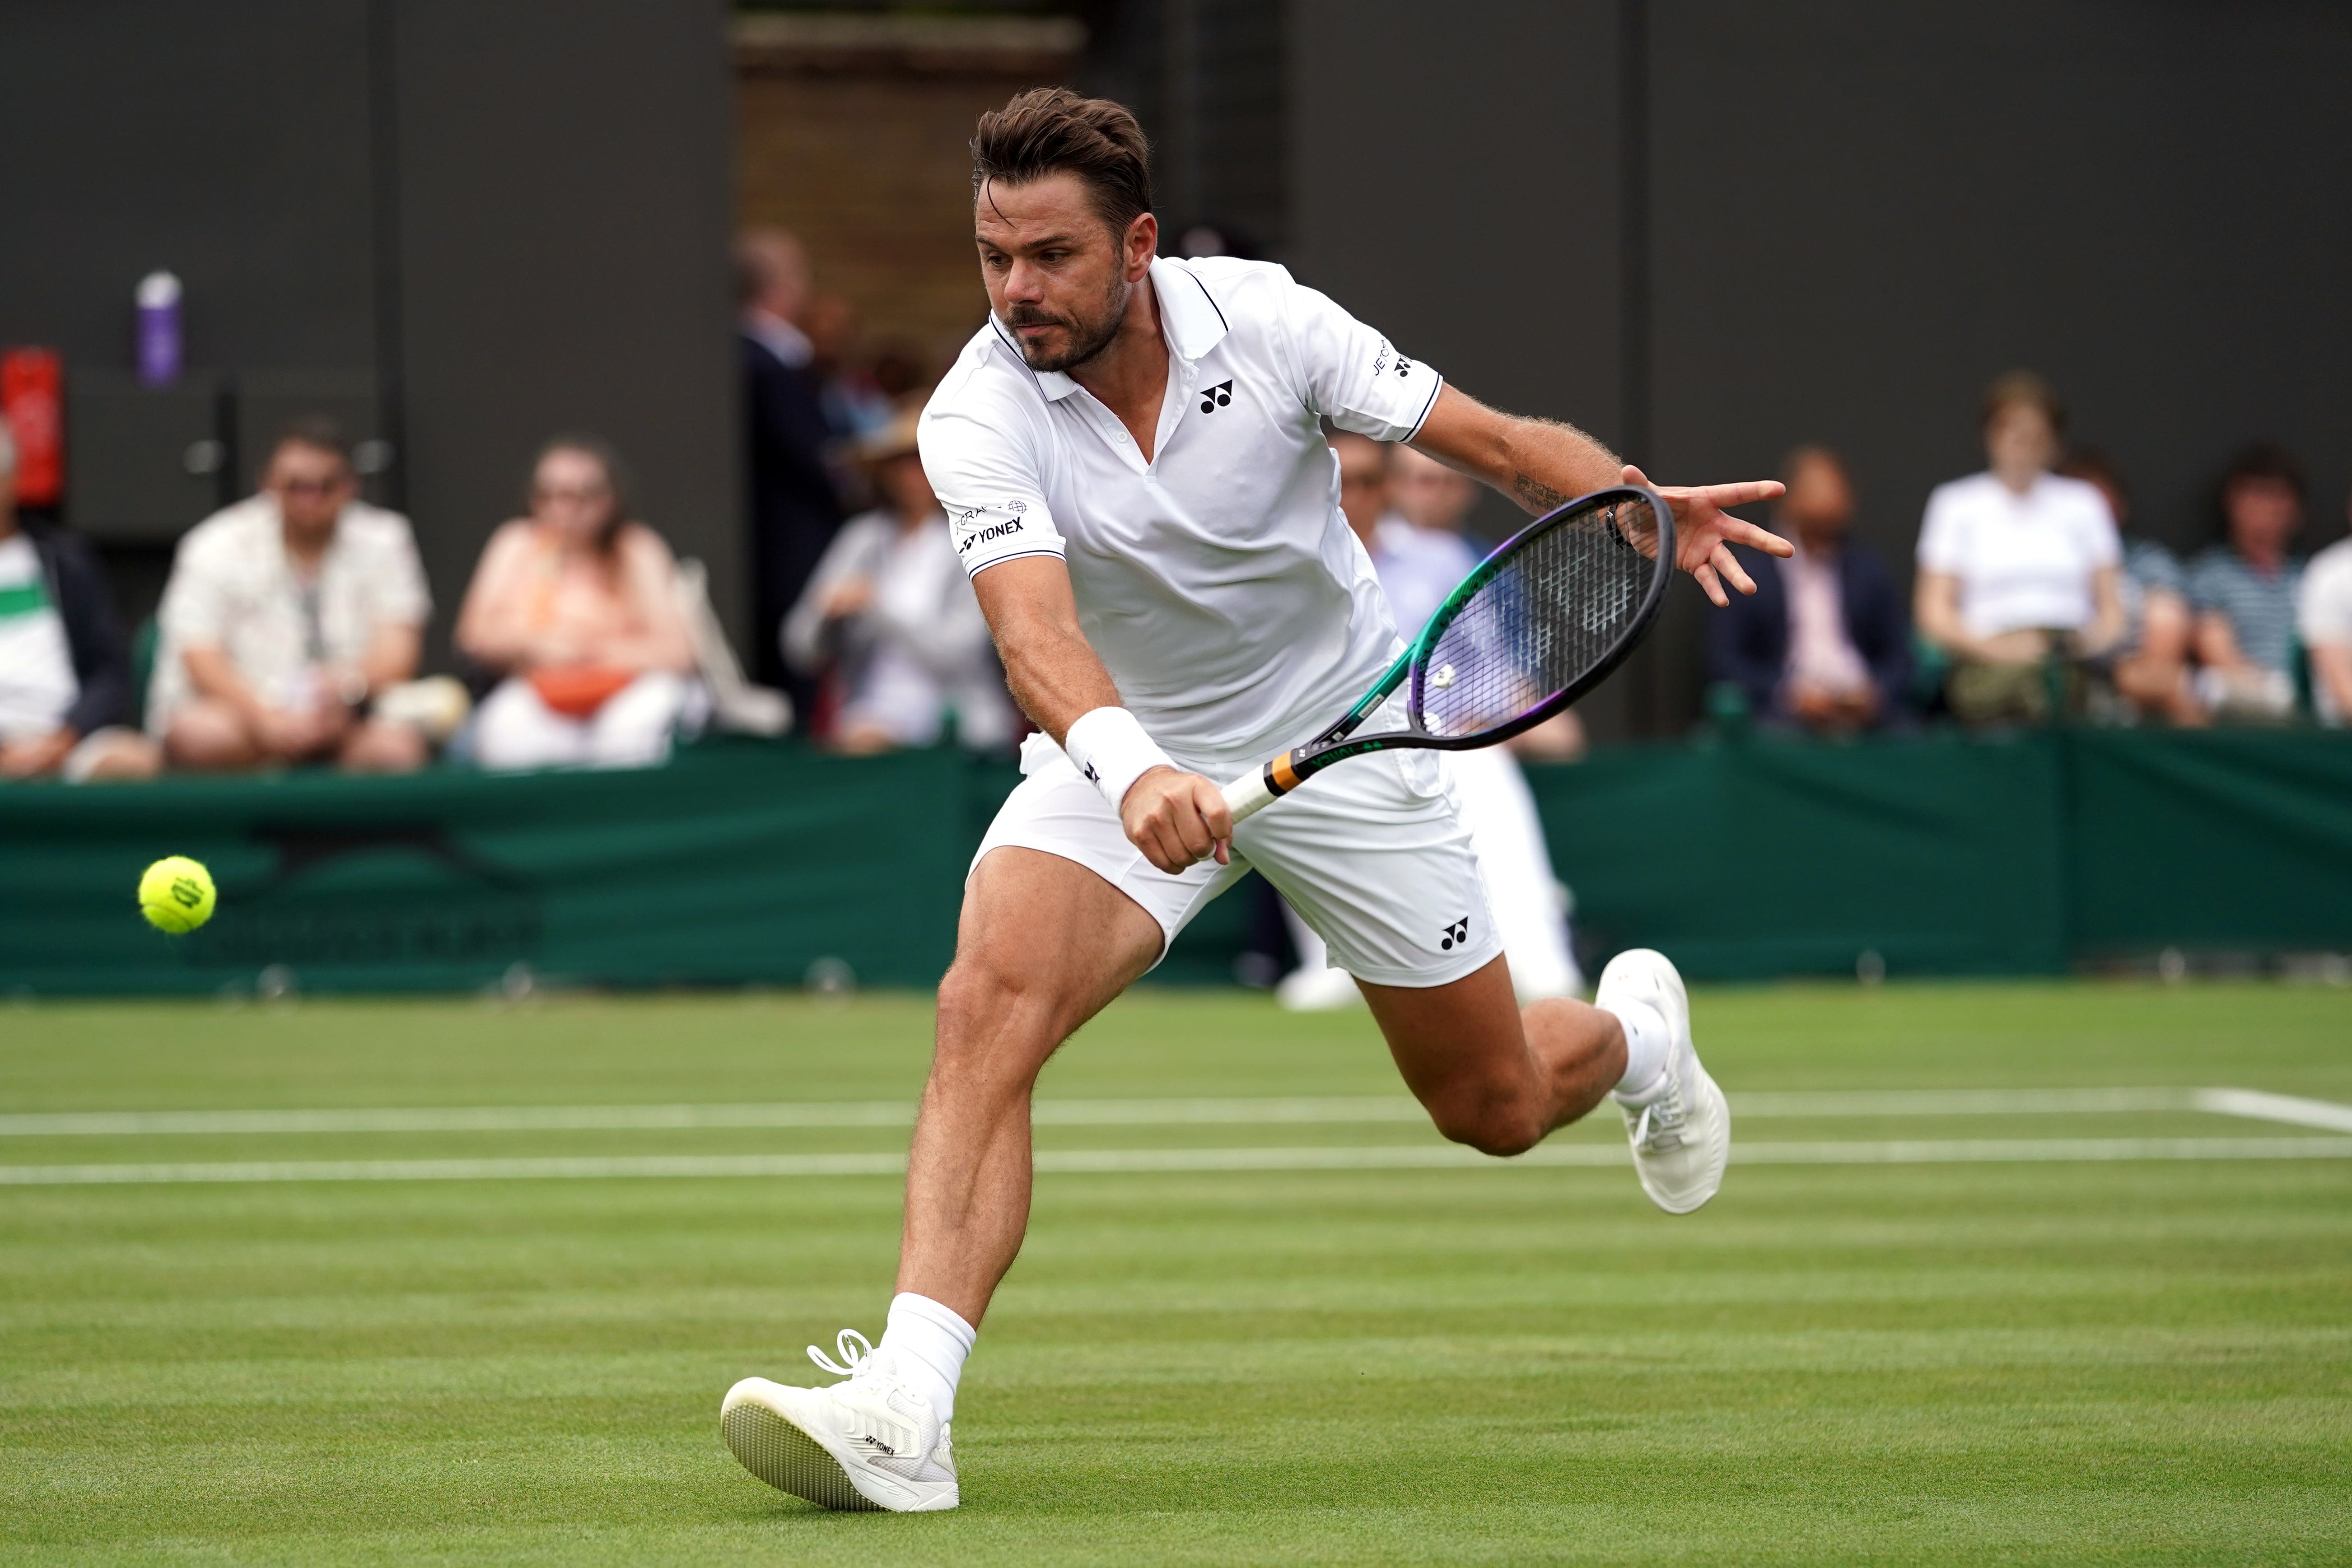
{"label": "whole dark grey wall left of the brick opening, both panels", "polygon": [[0,0],[0,341],[120,371],[169,266],[193,364],[376,376],[437,646],[557,430],[621,449],[736,621],[724,16]]}

